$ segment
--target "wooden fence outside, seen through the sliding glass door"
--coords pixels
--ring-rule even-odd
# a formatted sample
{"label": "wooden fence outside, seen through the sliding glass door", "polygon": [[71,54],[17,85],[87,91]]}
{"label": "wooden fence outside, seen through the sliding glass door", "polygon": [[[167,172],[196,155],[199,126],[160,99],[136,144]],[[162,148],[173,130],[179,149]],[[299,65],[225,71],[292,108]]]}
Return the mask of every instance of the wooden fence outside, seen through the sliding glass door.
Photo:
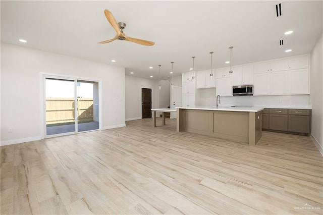
{"label": "wooden fence outside, seen through the sliding glass door", "polygon": [[[78,98],[79,122],[93,121],[93,98]],[[46,98],[46,124],[75,121],[74,98]]]}

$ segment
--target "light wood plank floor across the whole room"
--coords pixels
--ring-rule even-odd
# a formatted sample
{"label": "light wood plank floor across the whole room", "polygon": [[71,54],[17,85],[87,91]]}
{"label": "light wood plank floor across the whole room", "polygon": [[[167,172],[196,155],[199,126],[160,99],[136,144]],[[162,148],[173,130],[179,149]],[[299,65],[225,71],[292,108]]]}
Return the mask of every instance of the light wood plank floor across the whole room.
{"label": "light wood plank floor across the whole room", "polygon": [[263,132],[252,147],[166,123],[2,146],[1,214],[323,213],[309,137]]}

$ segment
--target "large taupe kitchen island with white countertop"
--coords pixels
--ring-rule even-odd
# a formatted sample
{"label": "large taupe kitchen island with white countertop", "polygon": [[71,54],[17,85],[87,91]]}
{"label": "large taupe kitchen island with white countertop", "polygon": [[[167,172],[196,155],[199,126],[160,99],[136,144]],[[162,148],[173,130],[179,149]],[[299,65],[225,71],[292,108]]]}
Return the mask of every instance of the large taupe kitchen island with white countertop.
{"label": "large taupe kitchen island with white countertop", "polygon": [[261,138],[263,108],[176,107],[177,131],[249,143]]}

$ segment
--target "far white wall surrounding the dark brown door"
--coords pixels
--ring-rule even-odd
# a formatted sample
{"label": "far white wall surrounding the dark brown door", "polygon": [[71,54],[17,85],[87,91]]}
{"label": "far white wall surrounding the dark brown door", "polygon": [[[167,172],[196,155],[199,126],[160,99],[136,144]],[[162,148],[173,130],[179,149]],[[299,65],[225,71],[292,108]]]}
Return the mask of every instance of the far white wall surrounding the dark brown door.
{"label": "far white wall surrounding the dark brown door", "polygon": [[126,121],[141,119],[141,88],[151,89],[151,107],[159,108],[158,82],[126,75]]}

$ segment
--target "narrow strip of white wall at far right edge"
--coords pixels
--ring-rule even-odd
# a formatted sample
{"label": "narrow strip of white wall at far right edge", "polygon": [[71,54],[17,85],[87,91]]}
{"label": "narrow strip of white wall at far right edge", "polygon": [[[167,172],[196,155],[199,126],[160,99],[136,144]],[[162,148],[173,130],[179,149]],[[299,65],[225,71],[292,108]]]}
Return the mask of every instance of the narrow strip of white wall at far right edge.
{"label": "narrow strip of white wall at far right edge", "polygon": [[323,32],[311,52],[312,137],[323,154]]}

